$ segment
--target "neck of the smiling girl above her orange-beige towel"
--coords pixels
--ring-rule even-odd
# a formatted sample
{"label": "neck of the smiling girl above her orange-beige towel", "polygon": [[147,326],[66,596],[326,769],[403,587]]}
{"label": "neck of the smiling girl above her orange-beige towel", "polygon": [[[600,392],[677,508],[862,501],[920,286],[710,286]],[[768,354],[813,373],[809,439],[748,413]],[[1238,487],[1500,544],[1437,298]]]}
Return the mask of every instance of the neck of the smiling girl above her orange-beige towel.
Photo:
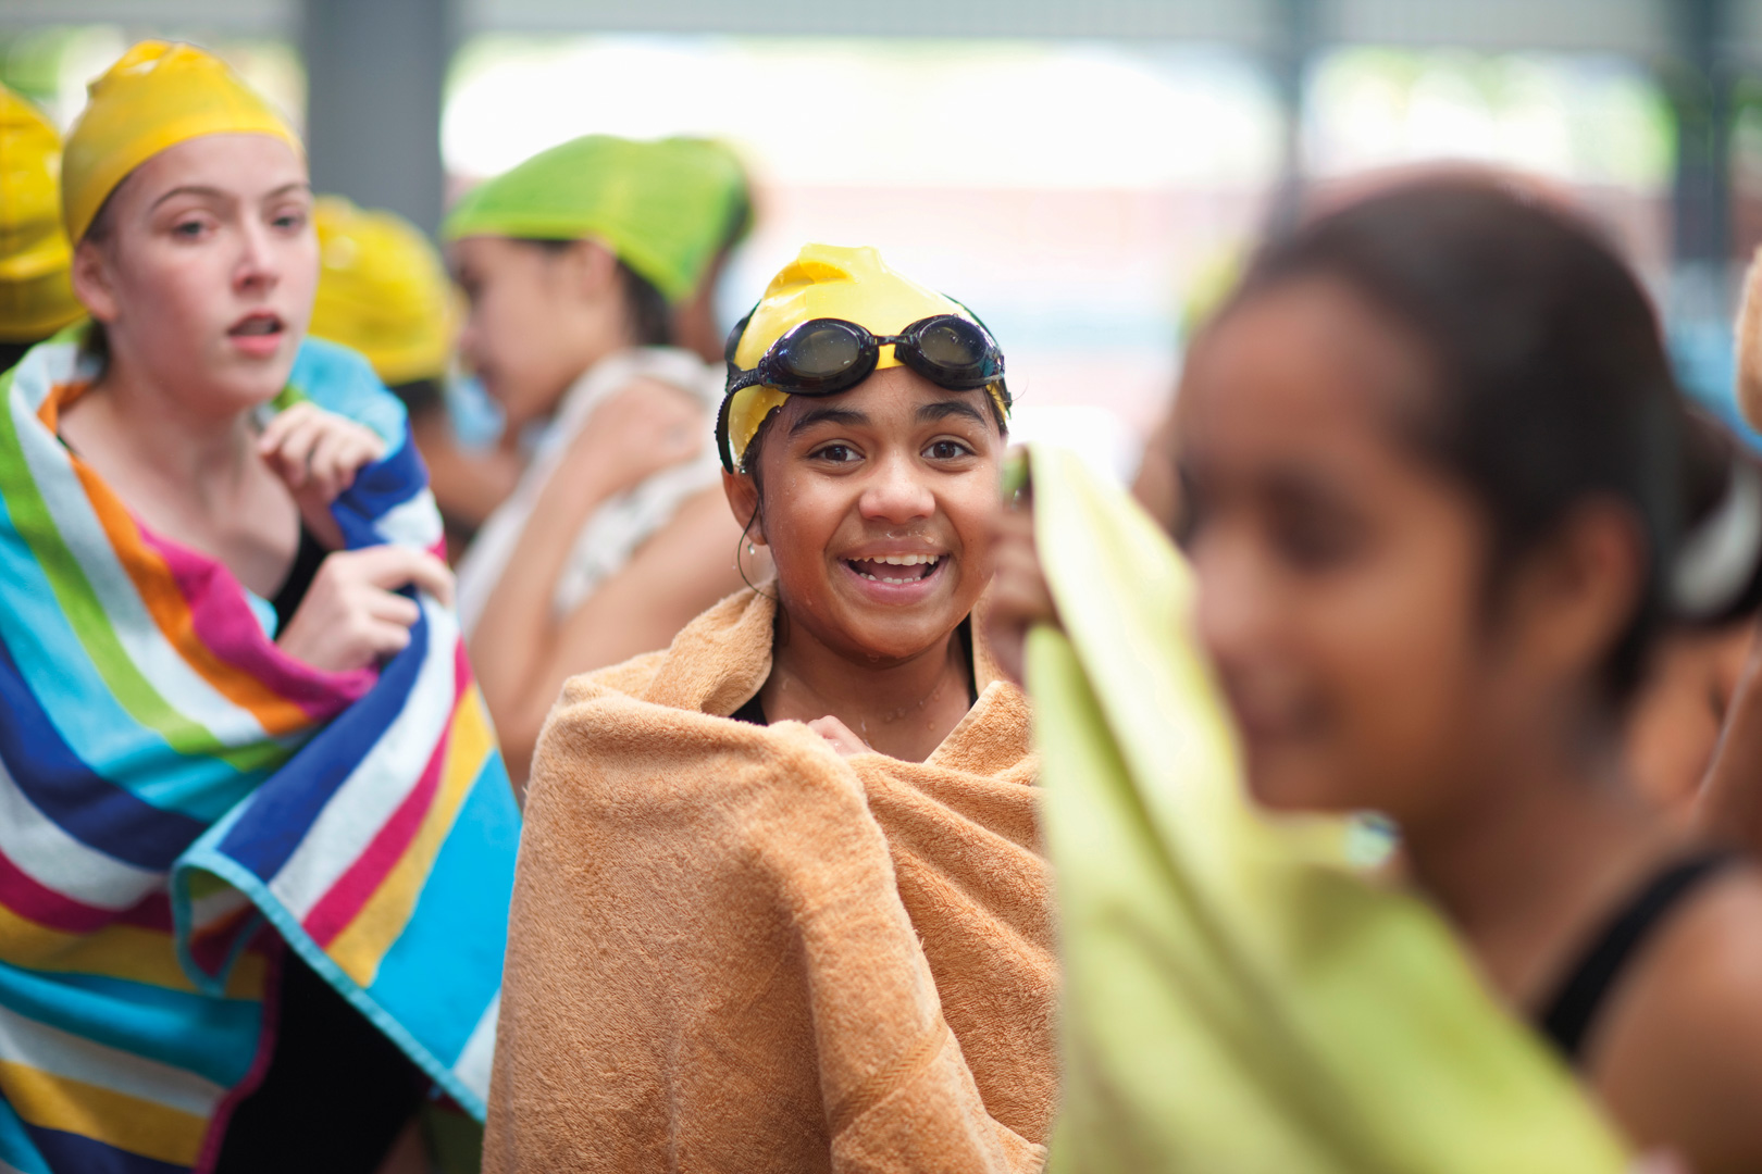
{"label": "neck of the smiling girl above her orange-beige towel", "polygon": [[890,665],[853,662],[805,625],[784,634],[759,693],[772,722],[835,716],[874,750],[922,762],[971,708],[973,669],[959,628]]}

